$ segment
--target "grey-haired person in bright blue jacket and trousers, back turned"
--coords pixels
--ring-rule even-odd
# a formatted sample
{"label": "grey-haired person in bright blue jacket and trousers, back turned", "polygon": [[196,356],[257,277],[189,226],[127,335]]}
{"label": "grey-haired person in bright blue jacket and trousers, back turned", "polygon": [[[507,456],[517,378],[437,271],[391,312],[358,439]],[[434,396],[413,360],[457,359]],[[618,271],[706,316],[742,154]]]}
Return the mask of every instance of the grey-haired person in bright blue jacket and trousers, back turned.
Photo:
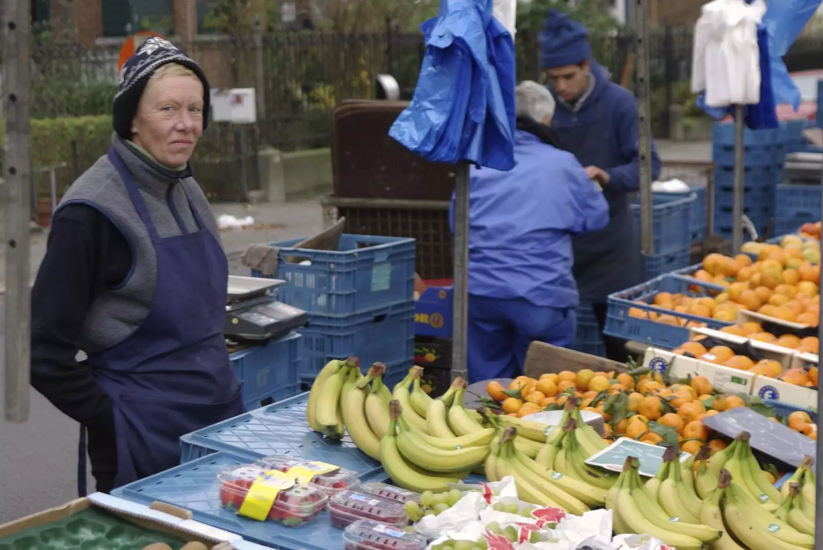
{"label": "grey-haired person in bright blue jacket and trousers, back turned", "polygon": [[471,170],[470,382],[514,377],[533,340],[572,344],[578,293],[571,236],[608,223],[600,188],[574,155],[557,148],[549,91],[525,81],[515,95],[517,164],[509,172]]}

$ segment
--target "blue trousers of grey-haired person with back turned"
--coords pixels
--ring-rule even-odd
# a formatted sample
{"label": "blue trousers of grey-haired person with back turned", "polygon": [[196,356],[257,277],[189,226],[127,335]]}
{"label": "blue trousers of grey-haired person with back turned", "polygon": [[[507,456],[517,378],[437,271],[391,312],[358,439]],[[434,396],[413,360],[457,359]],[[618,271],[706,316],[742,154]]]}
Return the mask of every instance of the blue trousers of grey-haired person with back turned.
{"label": "blue trousers of grey-haired person with back turned", "polygon": [[515,377],[523,372],[529,344],[538,340],[570,347],[574,326],[574,308],[540,307],[522,299],[469,294],[469,383]]}

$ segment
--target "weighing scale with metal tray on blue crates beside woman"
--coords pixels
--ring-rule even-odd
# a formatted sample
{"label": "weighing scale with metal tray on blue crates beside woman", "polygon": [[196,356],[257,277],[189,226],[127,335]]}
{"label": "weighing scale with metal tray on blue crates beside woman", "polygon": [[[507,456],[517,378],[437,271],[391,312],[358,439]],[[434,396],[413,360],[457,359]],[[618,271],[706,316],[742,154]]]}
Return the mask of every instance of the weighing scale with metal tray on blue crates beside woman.
{"label": "weighing scale with metal tray on blue crates beside woman", "polygon": [[223,334],[230,340],[270,340],[304,326],[309,316],[302,309],[278,302],[271,289],[285,283],[229,275],[226,323]]}

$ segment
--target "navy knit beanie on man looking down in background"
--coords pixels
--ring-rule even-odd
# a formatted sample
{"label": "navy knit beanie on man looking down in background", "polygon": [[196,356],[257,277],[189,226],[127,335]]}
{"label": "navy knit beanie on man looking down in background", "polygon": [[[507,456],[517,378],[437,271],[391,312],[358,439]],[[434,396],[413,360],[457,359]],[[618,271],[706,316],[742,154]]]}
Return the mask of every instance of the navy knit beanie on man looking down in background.
{"label": "navy knit beanie on man looking down in background", "polygon": [[568,13],[549,10],[537,39],[540,41],[540,62],[546,69],[576,65],[592,57],[588,30],[569,19]]}

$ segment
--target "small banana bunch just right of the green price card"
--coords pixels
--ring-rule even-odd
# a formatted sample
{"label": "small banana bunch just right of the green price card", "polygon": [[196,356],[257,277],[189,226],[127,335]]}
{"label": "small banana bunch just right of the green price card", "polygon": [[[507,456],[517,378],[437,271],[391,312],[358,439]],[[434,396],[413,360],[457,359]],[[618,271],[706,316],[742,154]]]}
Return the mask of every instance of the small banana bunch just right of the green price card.
{"label": "small banana bunch just right of the green price card", "polygon": [[658,476],[653,478],[654,481],[649,480],[649,494],[656,494],[658,504],[669,517],[677,517],[690,524],[700,523],[700,505],[703,504],[695,492],[694,475],[694,463],[681,464],[680,449],[672,446],[663,453],[663,465],[658,470]]}

